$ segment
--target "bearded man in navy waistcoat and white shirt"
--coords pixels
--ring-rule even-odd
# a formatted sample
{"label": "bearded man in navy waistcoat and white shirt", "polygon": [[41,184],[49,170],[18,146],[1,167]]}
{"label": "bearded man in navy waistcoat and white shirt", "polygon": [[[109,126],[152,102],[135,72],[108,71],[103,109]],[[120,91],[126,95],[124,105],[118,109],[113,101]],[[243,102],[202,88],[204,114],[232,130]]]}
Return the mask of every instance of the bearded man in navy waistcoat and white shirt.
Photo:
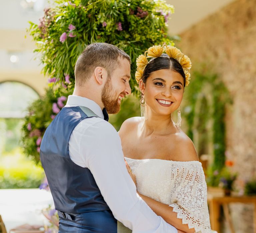
{"label": "bearded man in navy waistcoat and white shirt", "polygon": [[116,233],[117,220],[134,233],[177,232],[137,195],[118,133],[107,122],[107,112],[118,113],[131,94],[129,80],[124,51],[88,45],[76,62],[74,93],[45,131],[40,158],[61,233]]}

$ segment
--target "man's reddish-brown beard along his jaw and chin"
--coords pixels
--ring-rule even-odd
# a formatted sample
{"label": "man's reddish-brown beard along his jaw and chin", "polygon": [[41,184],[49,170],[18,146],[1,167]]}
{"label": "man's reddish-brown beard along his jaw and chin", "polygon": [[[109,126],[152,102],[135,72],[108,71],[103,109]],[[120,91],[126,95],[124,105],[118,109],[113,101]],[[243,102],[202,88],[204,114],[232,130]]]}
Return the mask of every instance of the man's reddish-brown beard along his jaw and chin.
{"label": "man's reddish-brown beard along his jaw and chin", "polygon": [[102,89],[101,101],[106,108],[108,114],[116,114],[120,111],[118,94],[115,93],[111,84],[111,78],[107,78],[107,82]]}

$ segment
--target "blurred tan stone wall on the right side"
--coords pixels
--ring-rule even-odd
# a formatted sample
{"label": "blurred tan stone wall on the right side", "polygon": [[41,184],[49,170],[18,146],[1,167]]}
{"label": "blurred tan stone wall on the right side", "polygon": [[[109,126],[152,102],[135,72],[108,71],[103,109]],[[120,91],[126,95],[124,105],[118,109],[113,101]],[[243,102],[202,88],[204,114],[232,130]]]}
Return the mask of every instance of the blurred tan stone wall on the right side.
{"label": "blurred tan stone wall on the right side", "polygon": [[[230,92],[227,155],[235,162],[237,187],[242,190],[244,182],[256,175],[256,1],[234,1],[183,32],[181,38],[177,46],[190,57],[192,69],[207,63]],[[253,232],[252,207],[232,204],[231,209],[236,232]]]}

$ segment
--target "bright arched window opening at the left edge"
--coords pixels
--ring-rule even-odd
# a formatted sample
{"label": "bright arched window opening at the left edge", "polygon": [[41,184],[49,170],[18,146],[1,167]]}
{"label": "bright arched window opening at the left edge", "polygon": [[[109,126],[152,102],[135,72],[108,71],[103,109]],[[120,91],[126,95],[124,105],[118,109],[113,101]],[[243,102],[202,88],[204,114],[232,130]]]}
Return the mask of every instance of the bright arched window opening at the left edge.
{"label": "bright arched window opening at the left edge", "polygon": [[38,98],[38,93],[23,83],[0,83],[0,157],[19,146],[26,109]]}

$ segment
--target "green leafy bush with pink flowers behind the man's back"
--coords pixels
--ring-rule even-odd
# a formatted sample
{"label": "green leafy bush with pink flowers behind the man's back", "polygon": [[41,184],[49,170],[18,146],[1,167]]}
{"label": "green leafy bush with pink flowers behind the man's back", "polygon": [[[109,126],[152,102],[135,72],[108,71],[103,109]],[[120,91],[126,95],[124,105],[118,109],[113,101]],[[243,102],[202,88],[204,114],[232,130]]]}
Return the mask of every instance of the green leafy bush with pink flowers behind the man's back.
{"label": "green leafy bush with pink flowers behind the man's back", "polygon": [[22,126],[23,135],[21,138],[24,153],[36,162],[39,163],[39,147],[40,138],[47,126],[51,123],[56,116],[53,112],[53,105],[57,105],[60,110],[65,104],[66,100],[58,102],[58,98],[65,97],[72,94],[71,91],[66,89],[59,89],[56,92],[53,88],[48,88],[43,98],[34,101],[28,108],[29,114],[25,117],[25,122]]}

